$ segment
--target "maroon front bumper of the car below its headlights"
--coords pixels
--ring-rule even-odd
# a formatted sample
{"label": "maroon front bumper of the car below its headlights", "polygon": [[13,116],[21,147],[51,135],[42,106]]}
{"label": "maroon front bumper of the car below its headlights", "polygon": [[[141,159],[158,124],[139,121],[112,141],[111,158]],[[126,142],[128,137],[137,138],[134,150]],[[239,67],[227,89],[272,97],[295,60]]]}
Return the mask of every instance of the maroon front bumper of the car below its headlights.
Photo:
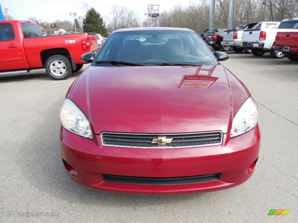
{"label": "maroon front bumper of the car below its headlights", "polygon": [[[260,148],[258,125],[232,139],[224,134],[222,145],[193,148],[107,147],[101,145],[99,135],[94,134],[93,138],[77,136],[61,127],[61,155],[69,177],[92,189],[127,194],[186,194],[237,186],[252,175]],[[109,175],[162,180],[212,174],[219,179],[175,185],[104,180]]]}

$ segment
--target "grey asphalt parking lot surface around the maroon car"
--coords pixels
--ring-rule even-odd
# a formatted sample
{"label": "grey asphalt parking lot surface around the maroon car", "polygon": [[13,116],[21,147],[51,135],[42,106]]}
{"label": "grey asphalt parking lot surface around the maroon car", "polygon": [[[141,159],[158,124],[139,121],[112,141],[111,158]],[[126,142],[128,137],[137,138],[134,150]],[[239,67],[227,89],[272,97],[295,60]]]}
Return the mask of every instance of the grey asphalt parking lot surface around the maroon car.
{"label": "grey asphalt parking lot surface around the maroon car", "polygon": [[[64,81],[44,70],[0,77],[0,222],[297,222],[298,63],[268,53],[229,55],[222,64],[259,106],[259,161],[246,183],[192,195],[110,194],[72,182],[60,157],[59,106],[81,72]],[[268,216],[270,209],[290,212]]]}

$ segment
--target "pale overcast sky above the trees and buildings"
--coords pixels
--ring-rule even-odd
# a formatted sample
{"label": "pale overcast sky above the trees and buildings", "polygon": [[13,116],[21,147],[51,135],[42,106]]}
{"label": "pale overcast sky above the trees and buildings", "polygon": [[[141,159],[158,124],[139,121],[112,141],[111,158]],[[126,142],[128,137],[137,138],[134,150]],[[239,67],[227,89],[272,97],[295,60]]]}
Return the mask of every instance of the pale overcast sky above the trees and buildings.
{"label": "pale overcast sky above the trees and buildings", "polygon": [[[84,4],[94,7],[104,20],[111,15],[110,8],[116,5],[126,6],[137,13],[140,22],[146,19],[148,5],[159,5],[159,11],[168,10],[177,4],[188,5],[189,0],[0,0],[2,10],[8,9],[8,14],[16,20],[27,20],[30,16],[46,22],[54,22],[57,19],[73,20],[69,12],[77,12],[78,16],[84,16],[86,9]],[[194,1],[195,2],[195,1]],[[106,21],[108,23],[108,21]]]}

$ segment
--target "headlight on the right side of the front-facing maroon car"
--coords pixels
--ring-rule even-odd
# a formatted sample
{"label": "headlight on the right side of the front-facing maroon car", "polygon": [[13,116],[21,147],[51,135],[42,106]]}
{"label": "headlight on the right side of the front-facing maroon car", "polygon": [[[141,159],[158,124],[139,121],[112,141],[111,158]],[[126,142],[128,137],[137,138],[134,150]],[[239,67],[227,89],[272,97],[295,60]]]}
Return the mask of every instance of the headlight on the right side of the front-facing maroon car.
{"label": "headlight on the right side of the front-facing maroon car", "polygon": [[249,97],[240,106],[233,118],[231,138],[246,133],[254,128],[254,126],[257,125],[257,120],[257,103]]}

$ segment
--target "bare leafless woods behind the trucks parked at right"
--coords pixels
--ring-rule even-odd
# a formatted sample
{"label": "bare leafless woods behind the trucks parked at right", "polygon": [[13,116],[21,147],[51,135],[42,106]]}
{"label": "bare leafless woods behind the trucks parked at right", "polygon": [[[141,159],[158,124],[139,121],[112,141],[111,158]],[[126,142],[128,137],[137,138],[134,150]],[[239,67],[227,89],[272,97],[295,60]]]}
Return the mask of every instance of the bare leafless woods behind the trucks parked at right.
{"label": "bare leafless woods behind the trucks parked at right", "polygon": [[[209,1],[190,2],[189,6],[176,5],[160,13],[161,26],[185,27],[197,32],[209,26]],[[258,21],[281,21],[298,17],[297,0],[239,0],[235,6],[235,24]],[[226,27],[229,15],[229,0],[217,0],[215,27]]]}

